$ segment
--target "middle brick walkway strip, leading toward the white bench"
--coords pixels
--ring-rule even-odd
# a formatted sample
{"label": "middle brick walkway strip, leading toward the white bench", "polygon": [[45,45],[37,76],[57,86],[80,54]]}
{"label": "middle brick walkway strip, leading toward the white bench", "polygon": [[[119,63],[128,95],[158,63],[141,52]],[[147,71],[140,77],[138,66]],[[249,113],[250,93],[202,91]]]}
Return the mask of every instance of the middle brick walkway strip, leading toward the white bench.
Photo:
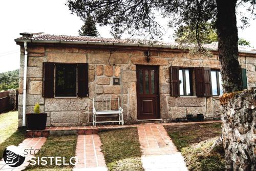
{"label": "middle brick walkway strip, leading toward the white bench", "polygon": [[98,135],[78,135],[76,157],[78,163],[73,170],[108,170],[101,153],[101,142]]}

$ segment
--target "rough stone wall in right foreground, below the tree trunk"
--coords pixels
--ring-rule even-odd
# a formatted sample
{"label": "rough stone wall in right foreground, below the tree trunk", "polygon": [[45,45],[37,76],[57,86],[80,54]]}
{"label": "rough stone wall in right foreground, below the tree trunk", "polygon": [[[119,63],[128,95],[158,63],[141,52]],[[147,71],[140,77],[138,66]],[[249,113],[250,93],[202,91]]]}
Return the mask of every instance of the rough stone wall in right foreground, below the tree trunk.
{"label": "rough stone wall in right foreground, below the tree trunk", "polygon": [[256,88],[236,94],[222,108],[227,170],[256,170]]}

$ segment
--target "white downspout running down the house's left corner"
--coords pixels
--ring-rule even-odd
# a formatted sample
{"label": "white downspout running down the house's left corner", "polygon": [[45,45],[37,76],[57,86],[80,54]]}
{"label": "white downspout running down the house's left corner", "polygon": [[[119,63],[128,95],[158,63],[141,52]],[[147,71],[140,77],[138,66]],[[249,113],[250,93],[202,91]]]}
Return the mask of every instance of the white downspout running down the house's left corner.
{"label": "white downspout running down the house's left corner", "polygon": [[27,42],[24,42],[25,59],[24,59],[24,77],[23,77],[23,111],[22,111],[22,126],[26,126],[26,90],[27,90],[27,64],[28,64],[28,49]]}

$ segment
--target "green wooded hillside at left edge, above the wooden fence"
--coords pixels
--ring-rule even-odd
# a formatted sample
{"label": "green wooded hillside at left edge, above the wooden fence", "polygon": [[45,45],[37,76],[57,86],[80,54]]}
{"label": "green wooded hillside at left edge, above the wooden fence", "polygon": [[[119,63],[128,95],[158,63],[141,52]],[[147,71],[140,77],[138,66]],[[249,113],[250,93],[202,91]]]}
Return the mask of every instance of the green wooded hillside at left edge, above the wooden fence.
{"label": "green wooded hillside at left edge, above the wooden fence", "polygon": [[0,73],[0,91],[18,88],[19,69]]}

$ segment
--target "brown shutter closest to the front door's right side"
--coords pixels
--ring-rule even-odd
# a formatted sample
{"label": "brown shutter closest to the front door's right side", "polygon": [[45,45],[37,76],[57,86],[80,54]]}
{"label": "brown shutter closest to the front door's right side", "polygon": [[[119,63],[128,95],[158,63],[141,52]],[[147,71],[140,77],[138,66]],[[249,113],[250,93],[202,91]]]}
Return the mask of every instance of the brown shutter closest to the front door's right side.
{"label": "brown shutter closest to the front door's right side", "polygon": [[180,96],[180,80],[179,80],[179,67],[172,66],[170,67],[170,90],[172,96],[178,97]]}

